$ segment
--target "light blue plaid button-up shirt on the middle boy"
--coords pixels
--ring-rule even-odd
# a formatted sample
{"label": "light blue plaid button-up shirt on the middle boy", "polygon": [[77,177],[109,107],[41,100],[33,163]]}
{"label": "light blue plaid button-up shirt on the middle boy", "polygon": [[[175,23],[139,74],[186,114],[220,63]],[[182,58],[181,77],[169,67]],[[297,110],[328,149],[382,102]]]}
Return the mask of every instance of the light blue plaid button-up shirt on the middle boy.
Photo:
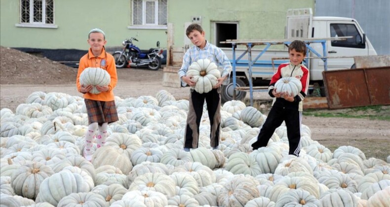
{"label": "light blue plaid button-up shirt on the middle boy", "polygon": [[[183,64],[181,69],[177,72],[179,74],[179,78],[186,75],[188,68],[190,65],[199,59],[209,59],[212,62],[214,62],[217,66],[222,65],[222,72],[221,77],[224,77],[227,75],[227,78],[222,83],[223,85],[227,85],[230,82],[230,72],[232,71],[232,65],[230,64],[230,61],[228,57],[226,56],[225,52],[222,51],[217,46],[208,43],[206,41],[206,45],[203,49],[200,49],[197,46],[192,46],[190,49],[187,50],[186,54],[184,54],[183,57]],[[182,86],[187,86],[187,83],[181,80]]]}

